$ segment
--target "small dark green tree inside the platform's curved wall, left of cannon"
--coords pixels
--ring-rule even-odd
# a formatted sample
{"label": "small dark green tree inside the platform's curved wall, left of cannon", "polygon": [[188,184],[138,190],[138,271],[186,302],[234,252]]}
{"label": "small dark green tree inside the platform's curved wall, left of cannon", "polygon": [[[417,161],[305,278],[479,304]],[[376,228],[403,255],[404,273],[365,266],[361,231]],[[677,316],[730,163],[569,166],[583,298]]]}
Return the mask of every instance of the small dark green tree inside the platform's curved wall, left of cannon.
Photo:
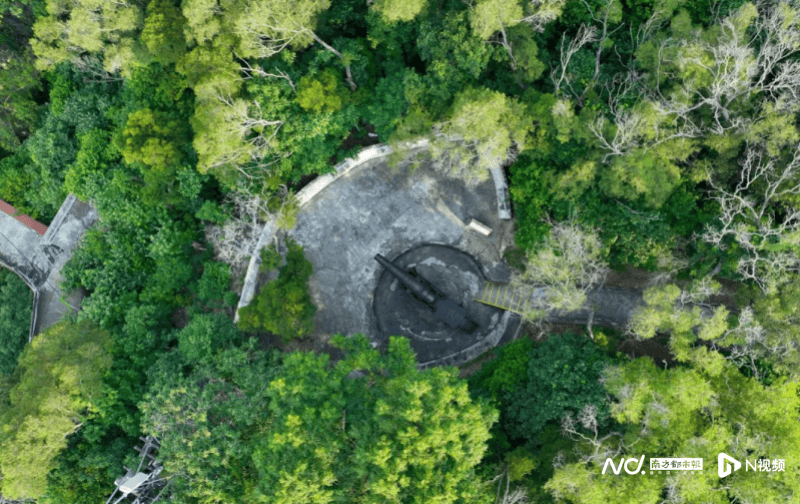
{"label": "small dark green tree inside the platform's curved wall, left of cannon", "polygon": [[244,331],[264,329],[284,340],[308,336],[314,329],[314,306],[308,279],[314,271],[303,247],[287,240],[286,264],[278,278],[264,285],[248,306],[239,310]]}

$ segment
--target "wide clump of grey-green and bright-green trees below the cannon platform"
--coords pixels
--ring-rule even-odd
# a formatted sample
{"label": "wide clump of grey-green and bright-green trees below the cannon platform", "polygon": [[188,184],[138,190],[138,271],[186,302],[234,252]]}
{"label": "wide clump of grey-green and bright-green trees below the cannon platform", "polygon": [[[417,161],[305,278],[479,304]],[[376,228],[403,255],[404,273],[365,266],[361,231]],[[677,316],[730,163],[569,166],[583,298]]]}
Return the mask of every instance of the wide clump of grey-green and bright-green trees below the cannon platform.
{"label": "wide clump of grey-green and bright-green trees below the cannon platform", "polygon": [[346,357],[335,366],[325,355],[279,359],[252,345],[199,360],[182,345],[165,355],[141,409],[166,470],[182,477],[177,502],[449,503],[482,494],[472,469],[493,413],[472,403],[466,384],[452,371],[417,372],[404,338],[385,355],[362,335],[336,344]]}

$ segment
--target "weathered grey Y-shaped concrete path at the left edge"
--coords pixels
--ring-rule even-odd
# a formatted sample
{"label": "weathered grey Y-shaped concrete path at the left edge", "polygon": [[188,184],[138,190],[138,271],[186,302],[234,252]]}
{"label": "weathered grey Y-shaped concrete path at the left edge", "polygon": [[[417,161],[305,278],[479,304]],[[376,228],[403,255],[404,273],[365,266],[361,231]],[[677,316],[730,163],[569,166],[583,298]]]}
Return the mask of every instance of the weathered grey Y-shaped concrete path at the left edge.
{"label": "weathered grey Y-shaped concrete path at the left edge", "polygon": [[[60,302],[61,268],[96,221],[96,210],[72,194],[64,200],[44,236],[0,213],[0,264],[19,275],[34,292],[30,338],[67,313],[68,308]],[[69,302],[77,307],[80,298],[80,294],[73,294]]]}

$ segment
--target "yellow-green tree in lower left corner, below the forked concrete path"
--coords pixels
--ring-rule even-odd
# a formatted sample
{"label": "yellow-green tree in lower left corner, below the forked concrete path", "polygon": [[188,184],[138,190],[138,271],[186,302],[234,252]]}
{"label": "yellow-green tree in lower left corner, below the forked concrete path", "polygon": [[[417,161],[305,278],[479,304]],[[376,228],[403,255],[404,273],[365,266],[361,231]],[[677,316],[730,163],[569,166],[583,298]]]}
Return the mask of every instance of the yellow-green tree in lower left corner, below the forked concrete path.
{"label": "yellow-green tree in lower left corner, below the forked concrete path", "polygon": [[91,322],[59,322],[39,334],[19,359],[10,404],[0,407],[2,492],[37,498],[66,437],[95,409],[111,366],[110,335]]}

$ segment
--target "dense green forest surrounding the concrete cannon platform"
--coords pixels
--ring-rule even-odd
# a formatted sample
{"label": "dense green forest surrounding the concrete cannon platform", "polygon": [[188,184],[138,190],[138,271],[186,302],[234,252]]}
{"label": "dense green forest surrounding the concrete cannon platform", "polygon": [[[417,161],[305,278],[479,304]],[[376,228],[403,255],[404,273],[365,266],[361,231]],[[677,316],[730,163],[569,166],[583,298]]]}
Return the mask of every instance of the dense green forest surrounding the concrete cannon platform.
{"label": "dense green forest surrounding the concrete cannon platform", "polygon": [[[74,320],[25,346],[29,290],[0,276],[4,497],[103,502],[143,434],[185,503],[800,492],[796,0],[3,0],[0,14],[0,198],[45,224],[69,193],[100,215],[62,269],[64,291],[87,293]],[[506,170],[515,281],[558,294],[531,312],[581,305],[606,266],[657,270],[630,334],[666,338],[670,365],[591,332],[521,339],[468,394],[452,369],[417,372],[404,340],[266,351],[316,338],[313,266],[291,241],[267,250],[277,278],[237,327],[241,265],[367,131],[428,138],[430,164],[468,184]],[[714,276],[736,282],[738,309],[710,308]],[[723,484],[596,477],[642,451],[789,465]]]}

